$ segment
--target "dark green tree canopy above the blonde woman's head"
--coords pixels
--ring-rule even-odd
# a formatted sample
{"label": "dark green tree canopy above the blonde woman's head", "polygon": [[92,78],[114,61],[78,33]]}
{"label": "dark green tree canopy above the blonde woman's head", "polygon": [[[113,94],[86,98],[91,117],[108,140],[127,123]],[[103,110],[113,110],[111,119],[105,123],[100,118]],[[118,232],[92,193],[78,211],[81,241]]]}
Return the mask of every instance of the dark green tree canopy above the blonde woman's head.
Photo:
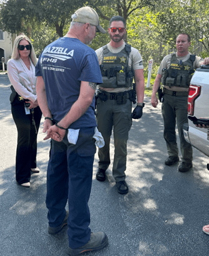
{"label": "dark green tree canopy above the blonde woman's head", "polygon": [[1,24],[10,33],[31,36],[31,29],[42,23],[63,36],[63,28],[79,4],[75,0],[8,0],[1,4]]}

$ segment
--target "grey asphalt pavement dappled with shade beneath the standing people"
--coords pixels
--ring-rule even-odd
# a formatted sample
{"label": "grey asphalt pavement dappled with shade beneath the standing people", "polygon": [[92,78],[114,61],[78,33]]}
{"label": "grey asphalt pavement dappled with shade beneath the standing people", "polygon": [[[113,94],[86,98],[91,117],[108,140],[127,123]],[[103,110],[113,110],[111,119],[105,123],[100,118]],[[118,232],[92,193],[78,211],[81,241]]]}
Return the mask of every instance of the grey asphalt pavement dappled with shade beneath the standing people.
{"label": "grey asphalt pavement dappled with shade beneath the standing people", "polygon": [[[45,198],[49,141],[43,141],[43,119],[37,156],[41,172],[32,174],[30,188],[19,186],[15,180],[17,131],[9,86],[8,75],[0,73],[0,255],[64,256],[67,228],[48,234]],[[128,140],[127,195],[116,191],[112,164],[108,179],[103,183],[96,180],[95,155],[90,227],[93,232],[106,232],[109,245],[83,255],[208,256],[209,235],[202,227],[209,224],[209,159],[194,149],[190,172],[178,172],[178,164],[165,166],[161,106],[154,109],[148,97],[145,104],[143,117],[133,120]],[[113,152],[111,139],[112,159]]]}

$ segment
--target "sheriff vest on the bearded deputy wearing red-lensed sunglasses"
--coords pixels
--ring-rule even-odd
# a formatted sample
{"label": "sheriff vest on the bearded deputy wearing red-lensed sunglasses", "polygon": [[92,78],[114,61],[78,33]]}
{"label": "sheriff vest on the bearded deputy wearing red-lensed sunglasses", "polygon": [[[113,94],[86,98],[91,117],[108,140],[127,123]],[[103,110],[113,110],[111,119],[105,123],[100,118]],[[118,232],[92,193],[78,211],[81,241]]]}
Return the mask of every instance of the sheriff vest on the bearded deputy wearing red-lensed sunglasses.
{"label": "sheriff vest on the bearded deputy wearing red-lensed sunglasses", "polygon": [[133,70],[128,67],[128,53],[126,48],[120,53],[111,53],[108,46],[103,46],[103,61],[100,66],[104,88],[132,87]]}

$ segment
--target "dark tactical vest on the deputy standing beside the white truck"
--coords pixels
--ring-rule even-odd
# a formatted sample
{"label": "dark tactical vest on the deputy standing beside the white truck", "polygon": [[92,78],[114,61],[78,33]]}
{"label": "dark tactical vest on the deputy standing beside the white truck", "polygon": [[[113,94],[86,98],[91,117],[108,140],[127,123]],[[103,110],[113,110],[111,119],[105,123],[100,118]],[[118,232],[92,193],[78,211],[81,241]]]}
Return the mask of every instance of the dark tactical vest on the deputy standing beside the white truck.
{"label": "dark tactical vest on the deputy standing beside the white truck", "polygon": [[168,85],[169,87],[186,87],[190,86],[190,80],[195,72],[193,69],[193,63],[195,61],[195,55],[190,55],[190,58],[186,61],[177,60],[176,53],[171,55],[170,68],[163,68],[163,75],[161,83]]}

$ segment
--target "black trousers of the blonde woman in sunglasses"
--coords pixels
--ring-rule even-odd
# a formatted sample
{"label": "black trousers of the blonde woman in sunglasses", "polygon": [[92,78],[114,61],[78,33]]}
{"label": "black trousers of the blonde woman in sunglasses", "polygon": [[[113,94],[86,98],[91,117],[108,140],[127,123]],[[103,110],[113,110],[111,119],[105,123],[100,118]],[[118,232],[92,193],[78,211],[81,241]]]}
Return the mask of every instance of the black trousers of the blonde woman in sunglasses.
{"label": "black trousers of the blonde woman in sunglasses", "polygon": [[32,114],[26,115],[24,104],[11,106],[13,119],[18,129],[18,146],[16,152],[16,181],[19,184],[30,181],[31,168],[36,168],[37,135],[41,122],[41,109],[34,109],[35,126],[32,124]]}

